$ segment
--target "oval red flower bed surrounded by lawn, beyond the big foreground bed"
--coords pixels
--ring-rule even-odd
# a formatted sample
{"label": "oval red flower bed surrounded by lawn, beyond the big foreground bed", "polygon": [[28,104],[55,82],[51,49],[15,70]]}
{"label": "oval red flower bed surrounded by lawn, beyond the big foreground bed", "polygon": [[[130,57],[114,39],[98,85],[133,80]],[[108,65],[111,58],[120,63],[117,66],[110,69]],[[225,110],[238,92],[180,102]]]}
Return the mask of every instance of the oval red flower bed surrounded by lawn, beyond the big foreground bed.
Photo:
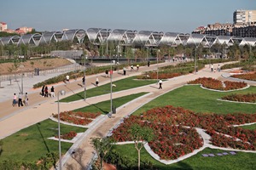
{"label": "oval red flower bed surrounded by lawn, beyond the big foreground bed", "polygon": [[204,88],[211,88],[215,90],[234,90],[247,87],[246,82],[221,82],[212,77],[197,78],[194,81],[188,82],[188,84],[201,84]]}

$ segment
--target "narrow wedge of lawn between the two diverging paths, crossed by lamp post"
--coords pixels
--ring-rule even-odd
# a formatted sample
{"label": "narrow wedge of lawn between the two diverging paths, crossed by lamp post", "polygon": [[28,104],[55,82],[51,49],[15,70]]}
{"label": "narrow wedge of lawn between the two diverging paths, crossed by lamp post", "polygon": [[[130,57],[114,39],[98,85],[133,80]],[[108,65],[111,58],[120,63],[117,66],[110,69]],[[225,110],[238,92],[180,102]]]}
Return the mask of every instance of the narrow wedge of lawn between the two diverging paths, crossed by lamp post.
{"label": "narrow wedge of lawn between the two diverging paths, crossed by lamp post", "polygon": [[[148,93],[143,92],[139,94],[131,94],[124,97],[112,99],[113,106],[115,106],[115,108],[118,108],[119,106],[124,105],[125,103],[131,101],[132,99],[137,99],[138,97],[143,96],[144,94],[148,94]],[[92,112],[92,113],[100,112],[101,114],[108,114],[110,111],[110,100],[88,105],[73,111]]]}

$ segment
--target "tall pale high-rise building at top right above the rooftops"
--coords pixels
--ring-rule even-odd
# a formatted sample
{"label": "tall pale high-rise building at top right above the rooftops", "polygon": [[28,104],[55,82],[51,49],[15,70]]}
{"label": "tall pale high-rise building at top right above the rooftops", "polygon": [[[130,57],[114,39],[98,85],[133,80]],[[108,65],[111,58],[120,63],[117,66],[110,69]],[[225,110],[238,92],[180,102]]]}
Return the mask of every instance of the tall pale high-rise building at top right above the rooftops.
{"label": "tall pale high-rise building at top right above the rooftops", "polygon": [[256,22],[256,10],[236,10],[233,14],[234,24],[250,24]]}

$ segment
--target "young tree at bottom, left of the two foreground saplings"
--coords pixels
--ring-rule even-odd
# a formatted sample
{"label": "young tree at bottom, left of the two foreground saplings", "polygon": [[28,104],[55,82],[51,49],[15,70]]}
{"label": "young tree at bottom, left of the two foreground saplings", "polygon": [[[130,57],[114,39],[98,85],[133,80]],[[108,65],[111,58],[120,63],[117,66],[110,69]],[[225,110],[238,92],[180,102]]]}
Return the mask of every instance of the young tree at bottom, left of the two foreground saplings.
{"label": "young tree at bottom, left of the two foreground saplings", "polygon": [[96,150],[96,154],[100,160],[99,169],[103,169],[103,160],[107,153],[112,149],[113,139],[110,138],[94,138],[92,139],[92,144]]}

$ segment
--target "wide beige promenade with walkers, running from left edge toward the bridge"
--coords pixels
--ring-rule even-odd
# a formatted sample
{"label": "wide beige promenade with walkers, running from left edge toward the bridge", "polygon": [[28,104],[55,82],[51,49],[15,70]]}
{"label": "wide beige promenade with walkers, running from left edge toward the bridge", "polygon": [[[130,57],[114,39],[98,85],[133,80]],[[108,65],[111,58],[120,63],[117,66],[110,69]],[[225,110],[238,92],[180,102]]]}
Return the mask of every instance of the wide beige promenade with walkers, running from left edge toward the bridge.
{"label": "wide beige promenade with walkers, running from left edge toward the bridge", "polygon": [[[177,64],[177,63],[174,63],[174,64]],[[173,63],[171,62],[171,63],[159,64],[159,66],[164,66],[164,65],[173,65]],[[116,81],[116,80],[119,80],[119,79],[122,79],[122,78],[125,78],[125,77],[136,76],[136,75],[141,74],[141,72],[143,72],[143,71],[154,70],[154,69],[156,69],[156,65],[150,65],[150,67],[142,66],[140,68],[140,71],[128,71],[127,76],[123,76],[122,74],[119,74],[122,71],[119,71],[119,72],[113,71],[113,81]],[[52,75],[48,75],[48,76],[52,77]],[[104,76],[105,76],[105,73],[86,76],[86,81],[85,81],[86,82],[86,89],[95,87],[94,85],[92,85],[92,83],[95,83],[96,77],[99,78],[100,85],[110,82],[110,79],[105,78]],[[26,86],[29,88],[29,91],[27,91],[28,92],[28,98],[29,98],[29,105],[28,106],[23,106],[23,107],[15,106],[15,107],[13,107],[12,106],[12,98],[10,98],[8,100],[5,100],[5,101],[0,103],[0,108],[4,108],[4,109],[0,110],[0,129],[1,129],[0,139],[3,139],[5,136],[7,136],[11,133],[17,132],[21,128],[30,126],[30,125],[32,125],[36,122],[43,121],[44,119],[49,118],[49,116],[53,112],[57,111],[57,106],[55,105],[55,101],[57,100],[56,97],[55,98],[43,98],[43,97],[41,97],[39,95],[39,93],[41,91],[41,88],[32,89],[32,85],[36,82],[31,80],[30,77],[24,78],[24,82],[26,82]],[[49,85],[48,88],[50,88],[51,86],[52,85]],[[82,86],[82,77],[79,77],[77,79],[77,81],[76,80],[70,80],[70,83],[68,83],[67,86],[64,82],[59,82],[59,83],[55,84],[54,87],[55,87],[55,96],[57,96],[58,91],[60,91],[62,89],[66,91],[66,96],[60,96],[60,99],[65,98],[69,95],[76,94],[78,92],[84,91],[84,87]],[[1,88],[0,90],[1,90],[0,91],[1,94],[2,93],[4,93],[4,94],[7,93],[7,92],[5,92],[6,89],[4,90],[4,88]],[[15,88],[10,89],[10,90],[15,90],[15,92],[18,91],[18,89],[15,89]],[[87,101],[87,99],[86,99],[86,101]],[[52,108],[52,110],[48,109],[47,111],[45,111],[44,108],[47,108],[48,106],[45,107],[44,105],[52,105],[53,108]],[[61,105],[65,105],[65,104],[61,104]],[[61,108],[63,108],[63,111],[72,110],[72,109],[69,109],[69,106],[67,106],[67,108],[65,108],[65,109],[62,106],[61,106]],[[29,117],[26,118],[26,113],[30,113],[32,115],[30,115]],[[37,114],[35,115],[35,113],[37,113]],[[42,113],[42,116],[40,116],[40,113]],[[16,117],[19,117],[19,118],[16,119]],[[17,122],[16,121],[15,123],[10,123],[11,120],[12,121],[22,120],[22,122],[16,123]],[[9,122],[9,124],[5,124],[3,126],[4,122]],[[9,126],[10,124],[12,125],[12,127]]]}

